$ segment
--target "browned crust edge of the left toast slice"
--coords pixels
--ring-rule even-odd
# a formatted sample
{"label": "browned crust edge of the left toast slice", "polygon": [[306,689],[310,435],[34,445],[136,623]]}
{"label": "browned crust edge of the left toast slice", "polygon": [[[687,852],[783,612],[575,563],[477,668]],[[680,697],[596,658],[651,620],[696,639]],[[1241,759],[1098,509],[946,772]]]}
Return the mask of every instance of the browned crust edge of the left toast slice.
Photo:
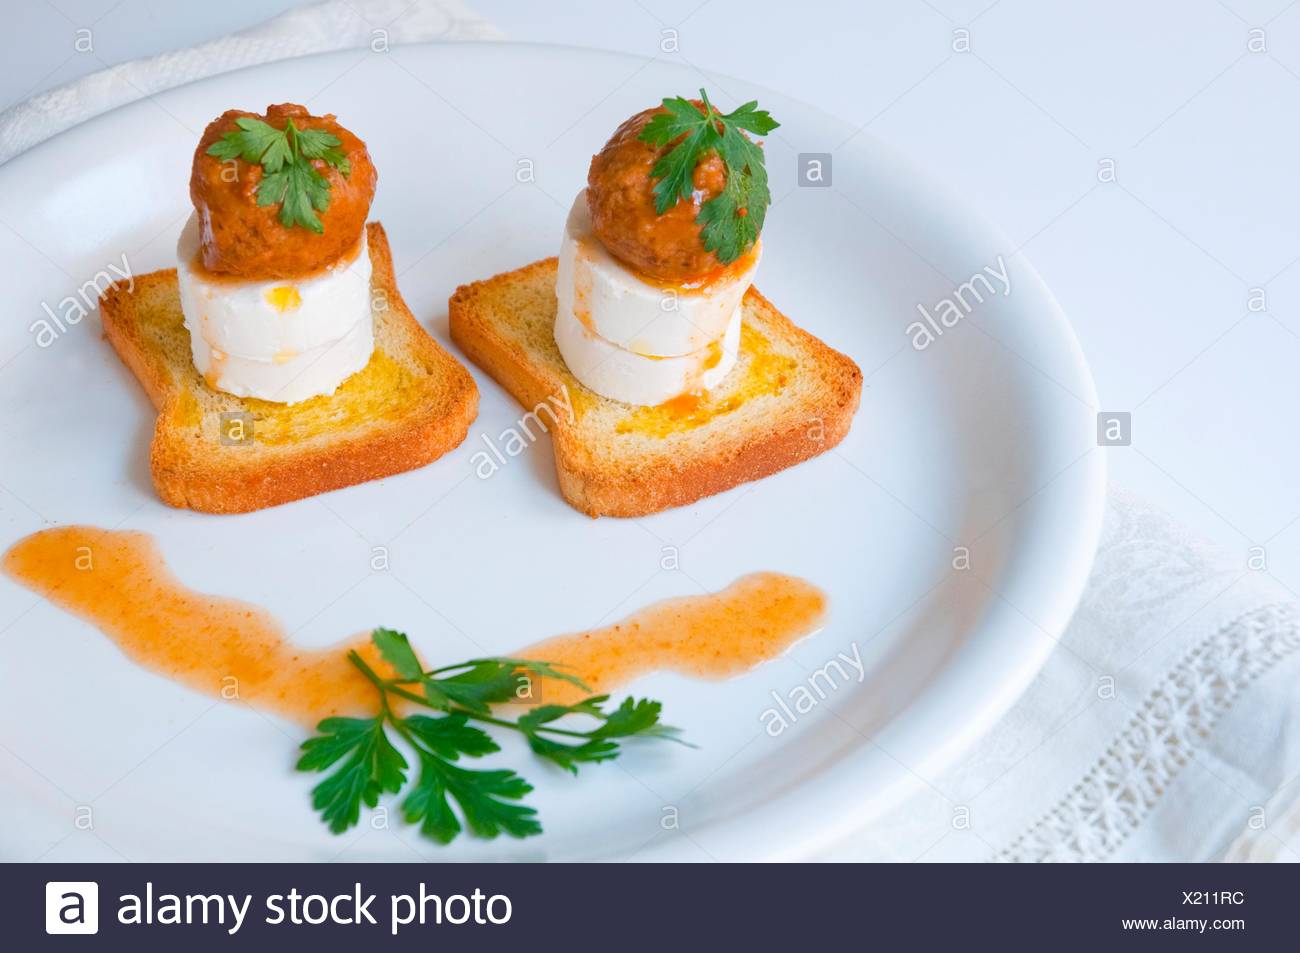
{"label": "browned crust edge of the left toast slice", "polygon": [[177,426],[183,377],[143,334],[135,307],[144,295],[177,294],[176,270],[144,274],[105,291],[105,337],[159,411],[150,469],[164,502],[213,514],[250,512],[424,467],[464,441],[478,413],[478,389],[402,300],[384,228],[372,222],[367,229],[372,282],[387,300],[387,320],[399,324],[415,358],[437,367],[441,387],[438,394],[420,393],[391,425],[339,433],[317,446],[291,446],[269,455],[221,454],[200,433]]}

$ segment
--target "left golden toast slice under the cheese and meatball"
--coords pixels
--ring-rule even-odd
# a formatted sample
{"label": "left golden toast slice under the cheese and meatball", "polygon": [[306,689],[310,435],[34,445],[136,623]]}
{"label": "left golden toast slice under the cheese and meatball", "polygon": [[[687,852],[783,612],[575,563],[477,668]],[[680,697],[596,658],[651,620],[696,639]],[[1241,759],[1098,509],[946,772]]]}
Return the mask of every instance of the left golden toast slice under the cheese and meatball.
{"label": "left golden toast slice under the cheese and meatball", "polygon": [[209,387],[190,356],[176,269],[104,293],[104,334],[159,412],[150,469],[165,503],[261,510],[422,467],[465,438],[478,389],[407,309],[384,228],[365,228],[374,354],[329,397],[277,404]]}

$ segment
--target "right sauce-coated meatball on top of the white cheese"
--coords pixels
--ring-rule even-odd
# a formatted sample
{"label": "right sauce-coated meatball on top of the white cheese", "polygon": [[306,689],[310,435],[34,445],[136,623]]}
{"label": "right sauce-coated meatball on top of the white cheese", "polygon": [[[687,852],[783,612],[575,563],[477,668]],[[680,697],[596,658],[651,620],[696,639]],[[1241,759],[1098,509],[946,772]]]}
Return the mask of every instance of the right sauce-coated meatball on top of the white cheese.
{"label": "right sauce-coated meatball on top of the white cheese", "polygon": [[[703,103],[696,105],[703,112]],[[696,165],[690,200],[656,215],[650,170],[670,147],[655,147],[637,137],[662,112],[655,107],[637,113],[592,157],[586,203],[592,228],[611,255],[653,278],[689,282],[723,268],[718,256],[705,250],[696,217],[699,207],[727,186],[727,166],[715,152],[706,155]]]}

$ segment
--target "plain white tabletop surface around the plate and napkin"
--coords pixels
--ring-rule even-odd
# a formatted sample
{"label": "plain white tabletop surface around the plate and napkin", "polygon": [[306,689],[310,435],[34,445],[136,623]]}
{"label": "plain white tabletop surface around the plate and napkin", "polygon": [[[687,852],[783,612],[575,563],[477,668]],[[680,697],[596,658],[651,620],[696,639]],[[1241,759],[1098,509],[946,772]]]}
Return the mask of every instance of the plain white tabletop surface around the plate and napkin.
{"label": "plain white tabletop surface around the plate and napkin", "polygon": [[[0,104],[291,7],[6,4]],[[511,39],[659,56],[815,103],[953,183],[1072,320],[1114,480],[1300,592],[1300,4],[474,0]],[[81,26],[94,53],[73,49]],[[1249,52],[1251,29],[1268,52]],[[680,52],[660,52],[675,29]],[[971,52],[953,52],[970,30]],[[520,95],[526,83],[520,82]],[[512,82],[504,77],[503,82]],[[836,143],[828,143],[832,151]],[[1113,159],[1117,183],[1097,181]],[[1268,311],[1248,311],[1249,289]]]}

